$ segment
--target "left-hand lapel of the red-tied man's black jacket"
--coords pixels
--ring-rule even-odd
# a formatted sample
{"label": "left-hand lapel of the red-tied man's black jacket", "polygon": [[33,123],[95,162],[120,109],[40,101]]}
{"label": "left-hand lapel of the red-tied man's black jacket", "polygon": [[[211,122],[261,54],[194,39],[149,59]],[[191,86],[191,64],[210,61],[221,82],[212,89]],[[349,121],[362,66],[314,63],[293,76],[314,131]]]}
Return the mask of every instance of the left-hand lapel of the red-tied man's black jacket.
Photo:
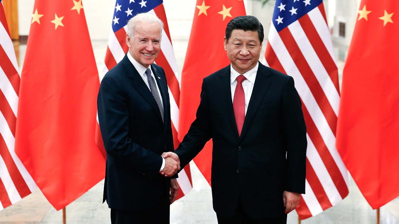
{"label": "left-hand lapel of the red-tied man's black jacket", "polygon": [[230,65],[223,69],[219,77],[221,80],[217,82],[220,99],[229,121],[231,128],[233,128],[234,136],[239,139],[237,125],[235,124],[233,101],[231,100],[231,81],[230,81]]}

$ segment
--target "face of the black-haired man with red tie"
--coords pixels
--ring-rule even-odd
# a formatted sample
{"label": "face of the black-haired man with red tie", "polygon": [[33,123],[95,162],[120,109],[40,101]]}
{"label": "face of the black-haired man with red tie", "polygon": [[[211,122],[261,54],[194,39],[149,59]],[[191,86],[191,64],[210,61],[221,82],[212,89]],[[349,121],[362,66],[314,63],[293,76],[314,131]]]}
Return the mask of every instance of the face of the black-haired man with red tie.
{"label": "face of the black-haired man with red tie", "polygon": [[256,66],[262,51],[258,32],[242,29],[234,29],[228,40],[225,37],[224,47],[231,65],[240,74],[244,74]]}

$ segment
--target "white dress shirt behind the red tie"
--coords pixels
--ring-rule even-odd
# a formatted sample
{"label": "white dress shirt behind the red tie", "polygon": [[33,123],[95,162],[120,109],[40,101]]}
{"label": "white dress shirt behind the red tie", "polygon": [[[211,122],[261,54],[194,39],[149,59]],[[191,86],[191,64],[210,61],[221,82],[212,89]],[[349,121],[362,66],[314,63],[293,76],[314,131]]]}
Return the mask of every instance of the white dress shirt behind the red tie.
{"label": "white dress shirt behind the red tie", "polygon": [[[243,89],[244,89],[244,96],[245,96],[245,115],[247,115],[247,109],[249,100],[251,99],[253,84],[255,84],[256,74],[258,72],[259,62],[256,66],[247,71],[246,73],[242,74],[246,79],[243,81]],[[230,87],[231,87],[231,102],[234,102],[234,93],[235,87],[237,86],[237,77],[241,75],[237,71],[233,69],[233,66],[230,65]]]}

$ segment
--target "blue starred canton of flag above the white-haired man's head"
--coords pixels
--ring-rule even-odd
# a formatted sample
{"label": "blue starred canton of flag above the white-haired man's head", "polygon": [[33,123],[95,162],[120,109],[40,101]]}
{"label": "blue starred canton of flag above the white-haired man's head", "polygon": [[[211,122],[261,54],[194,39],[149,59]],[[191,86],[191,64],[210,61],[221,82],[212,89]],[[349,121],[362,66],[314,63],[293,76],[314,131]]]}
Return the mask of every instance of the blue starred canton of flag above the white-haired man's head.
{"label": "blue starred canton of flag above the white-haired man's head", "polygon": [[114,33],[126,26],[127,22],[139,13],[149,12],[162,4],[162,0],[117,0],[112,18]]}

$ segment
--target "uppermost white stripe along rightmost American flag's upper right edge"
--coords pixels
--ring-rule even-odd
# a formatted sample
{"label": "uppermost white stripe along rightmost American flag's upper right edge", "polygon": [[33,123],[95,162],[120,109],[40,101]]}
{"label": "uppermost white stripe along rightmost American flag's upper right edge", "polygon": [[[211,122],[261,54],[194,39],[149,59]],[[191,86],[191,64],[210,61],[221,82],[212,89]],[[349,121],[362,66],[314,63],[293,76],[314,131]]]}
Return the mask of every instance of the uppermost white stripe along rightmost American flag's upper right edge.
{"label": "uppermost white stripe along rightmost American flag's upper right edge", "polygon": [[334,49],[332,47],[330,29],[328,29],[326,21],[324,20],[324,17],[320,12],[319,7],[316,7],[312,11],[308,12],[308,16],[310,18],[310,21],[312,21],[314,28],[316,28],[318,35],[326,46],[328,53],[330,53],[332,60],[335,64],[337,64],[337,62],[335,61]]}

